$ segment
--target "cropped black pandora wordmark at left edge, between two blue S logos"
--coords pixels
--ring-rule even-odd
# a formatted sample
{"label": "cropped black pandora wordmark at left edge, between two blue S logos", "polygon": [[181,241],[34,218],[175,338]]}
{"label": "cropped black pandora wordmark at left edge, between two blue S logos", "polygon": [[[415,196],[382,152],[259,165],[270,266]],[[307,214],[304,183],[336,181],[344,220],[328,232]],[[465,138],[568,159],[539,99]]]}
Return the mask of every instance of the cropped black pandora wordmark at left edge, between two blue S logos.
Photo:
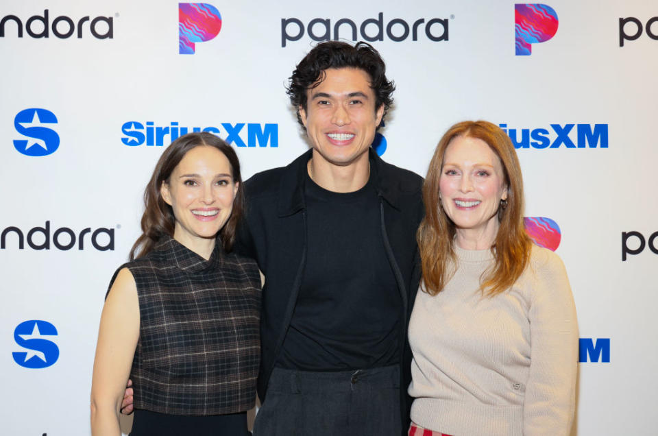
{"label": "cropped black pandora wordmark at left edge, between two blue S logos", "polygon": [[[25,238],[23,237],[23,230],[15,226],[9,226],[2,230],[0,234],[0,249],[4,250],[7,247],[7,237],[10,233],[16,234],[16,239],[18,241],[19,250],[25,248]],[[35,241],[35,235],[40,234],[41,236],[38,239],[42,241]],[[77,242],[77,249],[84,250],[84,242],[87,234],[90,234],[87,237],[86,241],[90,241],[91,245],[96,250],[100,252],[105,252],[107,250],[114,250],[114,229],[113,228],[97,228],[93,232],[91,228],[82,229],[79,234],[75,234],[73,230],[68,227],[60,227],[55,232],[50,232],[50,221],[46,221],[45,226],[43,227],[33,227],[27,231],[27,245],[32,248],[32,250],[50,250],[50,242],[52,240],[53,245],[55,245],[58,250],[71,250],[75,247]],[[102,237],[101,235],[105,235]]]}

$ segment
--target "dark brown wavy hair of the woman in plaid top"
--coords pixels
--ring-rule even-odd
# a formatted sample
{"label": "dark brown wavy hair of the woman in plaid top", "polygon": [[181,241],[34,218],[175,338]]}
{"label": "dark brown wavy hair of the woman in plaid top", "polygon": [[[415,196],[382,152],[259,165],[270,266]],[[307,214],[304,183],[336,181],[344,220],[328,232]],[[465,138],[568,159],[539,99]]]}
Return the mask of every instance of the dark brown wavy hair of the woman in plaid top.
{"label": "dark brown wavy hair of the woman in plaid top", "polygon": [[176,219],[169,204],[164,202],[160,194],[163,182],[169,183],[173,169],[184,158],[185,154],[195,147],[205,145],[215,147],[228,159],[231,165],[233,182],[238,184],[238,190],[233,202],[233,210],[217,237],[223,244],[224,250],[229,252],[235,241],[236,228],[242,219],[244,211],[244,191],[240,175],[240,162],[235,150],[223,139],[208,132],[188,133],[176,139],[164,150],[162,156],[153,170],[151,180],[144,190],[144,215],[142,215],[142,235],[135,241],[130,250],[130,260],[146,256],[153,250],[154,245],[162,235],[173,237]]}

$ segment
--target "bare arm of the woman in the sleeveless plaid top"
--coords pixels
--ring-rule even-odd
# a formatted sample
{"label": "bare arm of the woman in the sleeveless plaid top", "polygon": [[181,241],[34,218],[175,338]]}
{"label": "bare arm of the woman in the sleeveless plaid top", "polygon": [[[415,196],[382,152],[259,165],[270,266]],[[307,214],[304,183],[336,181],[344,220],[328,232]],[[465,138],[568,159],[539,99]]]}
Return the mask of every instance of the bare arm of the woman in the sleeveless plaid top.
{"label": "bare arm of the woman in the sleeveless plaid top", "polygon": [[121,435],[119,407],[139,337],[135,280],[121,269],[103,306],[91,383],[91,433]]}

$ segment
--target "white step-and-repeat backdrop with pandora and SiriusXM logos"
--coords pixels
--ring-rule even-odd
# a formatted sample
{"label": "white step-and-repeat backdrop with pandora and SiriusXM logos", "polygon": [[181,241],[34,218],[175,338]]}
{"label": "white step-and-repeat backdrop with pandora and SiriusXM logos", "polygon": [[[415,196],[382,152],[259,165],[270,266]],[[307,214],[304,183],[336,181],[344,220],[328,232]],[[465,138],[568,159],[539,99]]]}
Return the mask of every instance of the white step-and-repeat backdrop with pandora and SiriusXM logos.
{"label": "white step-and-repeat backdrop with pandora and SiriusXM logos", "polygon": [[387,61],[385,160],[424,175],[452,123],[507,130],[576,300],[574,434],[657,433],[658,2],[209,1],[0,5],[0,434],[89,434],[103,297],[162,149],[207,130],[247,177],[287,164],[308,145],[284,84],[328,38]]}

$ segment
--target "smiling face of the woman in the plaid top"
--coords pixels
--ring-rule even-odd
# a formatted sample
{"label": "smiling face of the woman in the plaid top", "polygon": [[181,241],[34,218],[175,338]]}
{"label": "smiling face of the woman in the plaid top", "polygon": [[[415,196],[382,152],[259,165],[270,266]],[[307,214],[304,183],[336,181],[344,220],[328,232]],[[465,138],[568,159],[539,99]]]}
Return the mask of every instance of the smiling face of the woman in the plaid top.
{"label": "smiling face of the woman in the plaid top", "polygon": [[187,152],[160,187],[176,219],[173,239],[195,252],[215,241],[231,215],[237,189],[231,165],[218,149],[200,145]]}

